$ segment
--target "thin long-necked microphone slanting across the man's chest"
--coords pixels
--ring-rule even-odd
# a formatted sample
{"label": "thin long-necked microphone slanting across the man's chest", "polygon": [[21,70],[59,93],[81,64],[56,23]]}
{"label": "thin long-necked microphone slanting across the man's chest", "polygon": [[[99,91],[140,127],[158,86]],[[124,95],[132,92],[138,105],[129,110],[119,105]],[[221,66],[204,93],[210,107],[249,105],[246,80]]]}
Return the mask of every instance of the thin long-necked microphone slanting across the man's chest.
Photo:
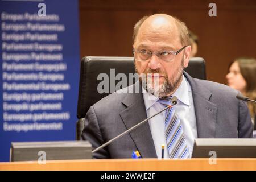
{"label": "thin long-necked microphone slanting across the man's chest", "polygon": [[144,119],[143,121],[139,122],[137,125],[131,127],[129,130],[124,131],[123,133],[117,135],[117,137],[115,137],[115,138],[109,140],[108,142],[102,144],[100,147],[94,149],[94,150],[92,151],[92,153],[97,152],[97,151],[100,150],[101,148],[104,148],[104,147],[108,146],[110,143],[114,142],[115,140],[117,140],[118,138],[122,137],[123,135],[129,133],[130,131],[133,131],[133,130],[136,129],[137,127],[141,126],[144,122],[147,122],[149,119],[151,119],[151,118],[155,117],[156,115],[162,113],[163,111],[165,111],[165,110],[171,108],[171,107],[174,106],[175,104],[177,104],[177,97],[174,96],[174,97],[172,97],[172,104],[171,104],[171,105],[168,105],[168,106],[165,107],[163,110],[160,110],[158,113],[152,115],[151,117],[149,117],[149,118],[147,118],[147,119]]}

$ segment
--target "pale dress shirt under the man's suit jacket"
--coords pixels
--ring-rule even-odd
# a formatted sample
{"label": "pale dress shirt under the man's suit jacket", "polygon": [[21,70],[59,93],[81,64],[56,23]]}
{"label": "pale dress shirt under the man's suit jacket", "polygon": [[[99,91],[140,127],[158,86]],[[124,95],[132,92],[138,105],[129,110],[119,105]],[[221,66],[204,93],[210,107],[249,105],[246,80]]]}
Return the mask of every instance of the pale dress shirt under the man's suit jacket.
{"label": "pale dress shirt under the man's suit jacket", "polygon": [[[174,109],[180,118],[181,125],[183,126],[186,143],[189,149],[189,156],[191,157],[194,140],[197,138],[196,116],[191,86],[189,85],[187,78],[185,78],[184,75],[182,77],[179,88],[177,88],[172,96],[176,96],[178,99],[177,104],[174,105]],[[164,109],[164,105],[160,104],[160,102],[157,102],[159,98],[148,94],[144,89],[143,98],[144,104],[146,106],[147,117],[150,117],[151,115],[154,115],[155,113]],[[162,158],[162,144],[167,146],[164,130],[164,112],[156,115],[154,118],[151,118],[148,121],[155,144],[156,154],[159,159]],[[169,158],[167,147],[164,147],[164,158]]]}

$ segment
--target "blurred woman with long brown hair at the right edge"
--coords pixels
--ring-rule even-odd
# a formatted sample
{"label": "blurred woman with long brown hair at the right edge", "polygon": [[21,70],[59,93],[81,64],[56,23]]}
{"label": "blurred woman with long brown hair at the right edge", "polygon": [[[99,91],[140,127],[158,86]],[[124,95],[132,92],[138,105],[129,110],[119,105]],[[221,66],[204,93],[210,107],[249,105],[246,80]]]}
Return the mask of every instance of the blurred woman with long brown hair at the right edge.
{"label": "blurred woman with long brown hair at the right edge", "polygon": [[[256,100],[256,60],[253,58],[238,58],[229,65],[226,75],[228,85],[239,90],[244,96]],[[251,120],[255,125],[256,104],[248,102]],[[254,126],[254,130],[255,126]]]}

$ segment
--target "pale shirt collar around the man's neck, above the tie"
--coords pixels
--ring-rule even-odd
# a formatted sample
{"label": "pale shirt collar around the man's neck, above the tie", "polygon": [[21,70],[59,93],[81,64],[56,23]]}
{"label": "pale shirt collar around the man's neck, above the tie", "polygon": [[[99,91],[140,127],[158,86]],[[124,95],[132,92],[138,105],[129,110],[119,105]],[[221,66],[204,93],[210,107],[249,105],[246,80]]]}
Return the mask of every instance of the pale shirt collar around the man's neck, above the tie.
{"label": "pale shirt collar around the man's neck, above the tie", "polygon": [[[146,92],[146,90],[143,87],[142,87],[142,90],[143,90],[142,93],[143,93],[145,107],[146,107],[146,110],[148,110],[152,105],[155,104],[156,101],[159,100],[159,97],[149,94],[148,92]],[[176,96],[179,101],[189,106],[190,104],[189,104],[188,92],[191,92],[191,90],[189,90],[189,87],[188,87],[188,81],[185,78],[185,76],[182,75],[181,84],[179,88],[177,88],[177,90],[172,94],[172,96]]]}

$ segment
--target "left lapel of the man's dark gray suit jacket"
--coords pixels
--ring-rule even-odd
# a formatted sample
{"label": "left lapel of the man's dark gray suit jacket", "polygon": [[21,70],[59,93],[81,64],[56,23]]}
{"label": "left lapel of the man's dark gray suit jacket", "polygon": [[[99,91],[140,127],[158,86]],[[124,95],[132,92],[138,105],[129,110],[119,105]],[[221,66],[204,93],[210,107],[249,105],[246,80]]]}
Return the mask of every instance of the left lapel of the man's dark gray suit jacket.
{"label": "left lapel of the man's dark gray suit jacket", "polygon": [[[122,101],[122,104],[127,107],[120,113],[127,129],[130,129],[147,118],[142,93],[127,94],[125,99]],[[148,122],[137,127],[137,129],[134,129],[129,134],[142,158],[157,158]]]}

